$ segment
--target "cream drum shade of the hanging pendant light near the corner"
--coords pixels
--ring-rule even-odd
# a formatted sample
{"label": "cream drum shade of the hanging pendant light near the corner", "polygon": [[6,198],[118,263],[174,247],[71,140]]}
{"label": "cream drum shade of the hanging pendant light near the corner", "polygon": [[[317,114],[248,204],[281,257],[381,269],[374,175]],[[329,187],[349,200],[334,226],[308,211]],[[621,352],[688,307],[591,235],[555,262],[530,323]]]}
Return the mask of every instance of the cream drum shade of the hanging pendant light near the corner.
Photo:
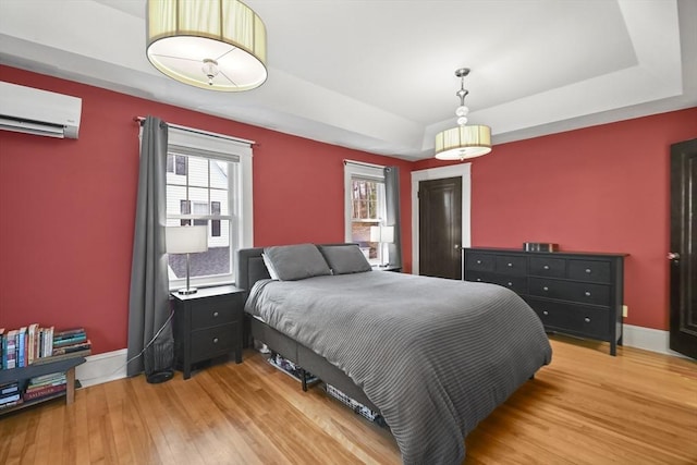
{"label": "cream drum shade of the hanging pendant light near the corner", "polygon": [[464,160],[491,151],[491,127],[484,125],[458,126],[436,135],[436,158]]}

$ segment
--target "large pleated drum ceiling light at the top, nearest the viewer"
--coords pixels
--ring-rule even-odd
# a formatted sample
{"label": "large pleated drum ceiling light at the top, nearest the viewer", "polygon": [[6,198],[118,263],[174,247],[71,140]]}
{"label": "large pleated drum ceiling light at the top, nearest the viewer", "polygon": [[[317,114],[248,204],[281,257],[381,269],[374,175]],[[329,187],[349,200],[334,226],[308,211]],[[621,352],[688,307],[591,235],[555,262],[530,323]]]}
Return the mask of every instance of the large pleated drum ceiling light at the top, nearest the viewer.
{"label": "large pleated drum ceiling light at the top, nearest the viewer", "polygon": [[148,0],[147,56],[169,77],[241,91],[267,78],[266,26],[237,0]]}

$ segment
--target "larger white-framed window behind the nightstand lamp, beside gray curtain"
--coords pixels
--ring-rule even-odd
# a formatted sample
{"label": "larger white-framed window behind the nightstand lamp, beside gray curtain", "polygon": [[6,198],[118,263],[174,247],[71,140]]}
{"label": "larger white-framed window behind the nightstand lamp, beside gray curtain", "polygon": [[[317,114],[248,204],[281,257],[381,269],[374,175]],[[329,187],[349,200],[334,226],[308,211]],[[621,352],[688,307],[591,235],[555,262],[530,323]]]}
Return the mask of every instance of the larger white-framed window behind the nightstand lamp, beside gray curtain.
{"label": "larger white-framed window behind the nightstand lamp, beside gray curtain", "polygon": [[[225,136],[170,126],[167,225],[208,227],[208,252],[191,255],[192,285],[234,282],[234,253],[252,246],[252,148]],[[186,256],[169,256],[170,287]]]}

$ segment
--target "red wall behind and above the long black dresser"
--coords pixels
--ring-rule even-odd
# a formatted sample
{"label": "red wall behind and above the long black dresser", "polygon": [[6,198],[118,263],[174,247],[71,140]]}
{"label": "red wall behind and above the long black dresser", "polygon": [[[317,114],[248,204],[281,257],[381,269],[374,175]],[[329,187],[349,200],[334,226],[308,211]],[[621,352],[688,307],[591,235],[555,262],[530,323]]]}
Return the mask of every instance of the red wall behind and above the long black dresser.
{"label": "red wall behind and above the long black dresser", "polygon": [[625,322],[667,330],[670,145],[695,137],[692,108],[497,145],[472,164],[472,243],[629,254]]}

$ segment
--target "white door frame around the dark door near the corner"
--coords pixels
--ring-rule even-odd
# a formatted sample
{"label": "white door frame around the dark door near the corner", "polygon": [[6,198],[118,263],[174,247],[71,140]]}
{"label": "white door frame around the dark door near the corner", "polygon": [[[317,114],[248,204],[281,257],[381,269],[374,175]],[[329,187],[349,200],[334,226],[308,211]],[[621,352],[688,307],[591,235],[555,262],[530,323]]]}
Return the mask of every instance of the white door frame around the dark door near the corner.
{"label": "white door frame around the dark door near the corner", "polygon": [[472,245],[470,207],[472,207],[472,163],[450,164],[448,167],[429,168],[412,171],[412,274],[418,274],[419,259],[419,224],[418,224],[418,183],[420,181],[442,180],[444,178],[462,178],[462,247]]}

